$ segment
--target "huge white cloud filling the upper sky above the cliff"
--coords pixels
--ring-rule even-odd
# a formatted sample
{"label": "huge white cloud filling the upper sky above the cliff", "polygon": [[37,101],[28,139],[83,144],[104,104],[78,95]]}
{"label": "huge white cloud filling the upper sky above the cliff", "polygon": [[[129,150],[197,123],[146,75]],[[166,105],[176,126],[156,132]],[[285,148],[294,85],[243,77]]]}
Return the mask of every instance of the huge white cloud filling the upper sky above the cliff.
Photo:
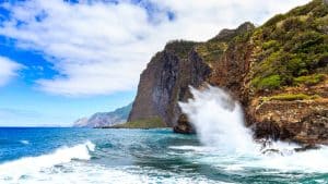
{"label": "huge white cloud filling the upper sky above the cliff", "polygon": [[[128,1],[69,4],[33,0],[5,4],[12,17],[0,27],[0,35],[16,39],[21,48],[42,51],[54,63],[60,75],[37,81],[40,89],[69,96],[110,94],[136,88],[151,56],[171,39],[206,40],[222,28],[245,21],[261,24],[276,13],[308,2],[150,1],[159,10],[151,15],[155,23],[144,8]],[[168,20],[167,10],[175,14],[174,21]]]}

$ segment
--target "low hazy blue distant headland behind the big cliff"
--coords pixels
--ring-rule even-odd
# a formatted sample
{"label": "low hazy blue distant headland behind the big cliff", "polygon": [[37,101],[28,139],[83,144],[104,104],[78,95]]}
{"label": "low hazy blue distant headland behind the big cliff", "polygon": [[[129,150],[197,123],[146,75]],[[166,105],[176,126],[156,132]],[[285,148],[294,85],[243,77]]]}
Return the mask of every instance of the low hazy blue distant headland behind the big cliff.
{"label": "low hazy blue distant headland behind the big cliff", "polygon": [[118,108],[112,112],[97,112],[90,118],[82,118],[74,122],[74,127],[104,127],[127,122],[132,103]]}

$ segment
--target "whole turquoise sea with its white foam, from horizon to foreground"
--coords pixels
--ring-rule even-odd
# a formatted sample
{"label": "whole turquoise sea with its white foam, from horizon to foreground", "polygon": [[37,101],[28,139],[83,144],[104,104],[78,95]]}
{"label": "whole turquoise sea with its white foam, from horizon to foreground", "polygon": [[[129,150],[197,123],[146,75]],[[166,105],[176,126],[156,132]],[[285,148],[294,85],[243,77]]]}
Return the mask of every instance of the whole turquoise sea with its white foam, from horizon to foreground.
{"label": "whole turquoise sea with its white foam, from horizon to foreground", "polygon": [[328,183],[327,158],[232,154],[166,128],[0,128],[1,184]]}

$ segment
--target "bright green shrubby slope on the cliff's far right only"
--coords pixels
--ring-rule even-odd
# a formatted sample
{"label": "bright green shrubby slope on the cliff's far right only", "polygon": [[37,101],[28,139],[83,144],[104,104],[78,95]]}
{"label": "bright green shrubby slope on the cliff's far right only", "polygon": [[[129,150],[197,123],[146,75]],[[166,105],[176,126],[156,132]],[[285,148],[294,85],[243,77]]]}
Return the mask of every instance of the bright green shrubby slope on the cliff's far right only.
{"label": "bright green shrubby slope on the cliff's far right only", "polygon": [[323,81],[328,60],[328,5],[314,0],[279,14],[257,28],[251,40],[256,91]]}

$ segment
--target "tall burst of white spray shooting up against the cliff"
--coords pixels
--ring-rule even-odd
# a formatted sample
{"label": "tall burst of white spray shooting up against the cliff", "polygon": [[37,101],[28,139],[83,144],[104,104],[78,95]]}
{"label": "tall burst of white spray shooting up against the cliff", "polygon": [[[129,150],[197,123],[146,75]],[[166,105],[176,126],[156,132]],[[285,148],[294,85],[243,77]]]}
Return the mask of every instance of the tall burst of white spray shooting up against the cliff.
{"label": "tall burst of white spray shooting up against the cliff", "polygon": [[255,150],[257,145],[244,126],[243,109],[237,101],[218,87],[190,90],[194,98],[179,106],[203,145],[244,154]]}

